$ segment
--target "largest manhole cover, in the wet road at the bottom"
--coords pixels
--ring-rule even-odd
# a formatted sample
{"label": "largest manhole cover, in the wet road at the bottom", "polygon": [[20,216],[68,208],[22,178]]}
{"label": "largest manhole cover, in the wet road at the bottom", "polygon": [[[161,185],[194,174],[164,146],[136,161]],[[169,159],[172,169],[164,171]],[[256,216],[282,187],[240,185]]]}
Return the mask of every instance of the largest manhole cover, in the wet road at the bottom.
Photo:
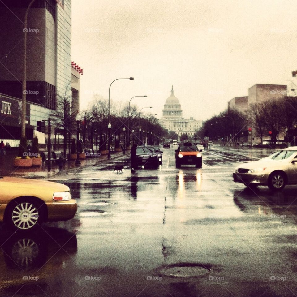
{"label": "largest manhole cover, in the wet road at the bottom", "polygon": [[175,276],[180,278],[194,278],[209,273],[209,269],[201,266],[175,266],[162,269],[160,273],[165,276]]}

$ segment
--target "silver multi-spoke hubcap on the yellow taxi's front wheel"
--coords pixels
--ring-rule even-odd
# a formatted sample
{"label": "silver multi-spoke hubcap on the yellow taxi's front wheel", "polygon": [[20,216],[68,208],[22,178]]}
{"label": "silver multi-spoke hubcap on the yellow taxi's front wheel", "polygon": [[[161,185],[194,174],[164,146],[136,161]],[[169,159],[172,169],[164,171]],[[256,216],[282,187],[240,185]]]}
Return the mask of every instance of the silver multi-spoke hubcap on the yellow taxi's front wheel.
{"label": "silver multi-spoke hubcap on the yellow taxi's front wheel", "polygon": [[20,203],[12,212],[12,221],[19,229],[30,229],[38,220],[38,211],[31,203]]}

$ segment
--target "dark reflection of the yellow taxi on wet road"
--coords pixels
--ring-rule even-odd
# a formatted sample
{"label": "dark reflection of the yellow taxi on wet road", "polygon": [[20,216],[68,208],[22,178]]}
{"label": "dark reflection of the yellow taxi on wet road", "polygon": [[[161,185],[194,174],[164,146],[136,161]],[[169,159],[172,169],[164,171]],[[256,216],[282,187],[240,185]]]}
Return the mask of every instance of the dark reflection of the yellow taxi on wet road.
{"label": "dark reflection of the yellow taxi on wet road", "polygon": [[1,232],[0,289],[52,277],[76,252],[76,235],[66,229],[40,227],[13,235]]}

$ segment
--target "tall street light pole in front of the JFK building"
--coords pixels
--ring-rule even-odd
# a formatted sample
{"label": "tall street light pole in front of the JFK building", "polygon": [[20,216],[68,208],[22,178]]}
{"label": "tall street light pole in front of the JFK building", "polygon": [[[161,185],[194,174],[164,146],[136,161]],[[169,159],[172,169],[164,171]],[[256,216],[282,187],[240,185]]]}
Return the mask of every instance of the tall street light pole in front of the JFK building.
{"label": "tall street light pole in front of the JFK building", "polygon": [[22,114],[21,114],[21,137],[26,137],[26,81],[27,81],[27,20],[28,20],[28,12],[30,7],[32,6],[32,0],[25,12],[24,19],[24,65],[23,65],[23,83],[22,83]]}

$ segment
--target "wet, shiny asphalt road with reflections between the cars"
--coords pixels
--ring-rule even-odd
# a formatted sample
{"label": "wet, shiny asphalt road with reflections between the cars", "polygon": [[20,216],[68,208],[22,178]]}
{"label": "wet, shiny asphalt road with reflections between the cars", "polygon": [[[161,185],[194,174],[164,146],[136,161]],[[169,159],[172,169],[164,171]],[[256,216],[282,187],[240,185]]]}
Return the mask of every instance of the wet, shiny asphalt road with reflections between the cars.
{"label": "wet, shiny asphalt road with reflections between the cars", "polygon": [[120,160],[119,174],[111,161],[55,176],[78,212],[34,234],[1,229],[0,296],[297,295],[297,187],[231,176],[270,152],[214,147],[202,169],[176,169],[163,151],[158,170]]}

